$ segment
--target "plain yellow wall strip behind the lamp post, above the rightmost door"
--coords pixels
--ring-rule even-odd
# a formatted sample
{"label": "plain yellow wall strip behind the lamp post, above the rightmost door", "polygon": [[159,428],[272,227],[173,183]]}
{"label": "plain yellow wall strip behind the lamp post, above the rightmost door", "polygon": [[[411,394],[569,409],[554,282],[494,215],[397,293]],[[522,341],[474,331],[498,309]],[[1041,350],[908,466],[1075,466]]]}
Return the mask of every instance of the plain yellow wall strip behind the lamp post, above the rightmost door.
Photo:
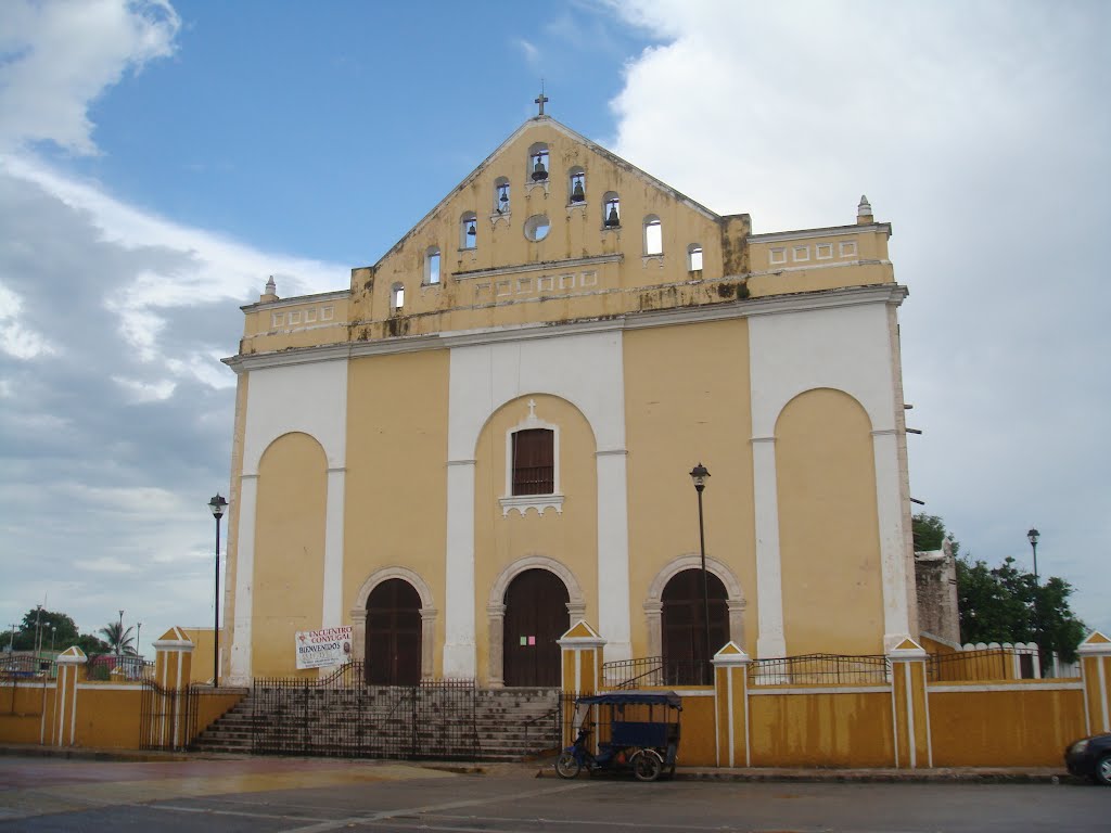
{"label": "plain yellow wall strip behind the lamp post, above the rightmost door", "polygon": [[[642,604],[657,574],[699,552],[698,498],[690,470],[710,468],[703,493],[707,555],[724,562],[749,604],[744,635],[757,638],[755,539],[748,322],[719,321],[627,332],[625,439],[632,655],[648,655]],[[720,645],[714,645],[714,650]]]}

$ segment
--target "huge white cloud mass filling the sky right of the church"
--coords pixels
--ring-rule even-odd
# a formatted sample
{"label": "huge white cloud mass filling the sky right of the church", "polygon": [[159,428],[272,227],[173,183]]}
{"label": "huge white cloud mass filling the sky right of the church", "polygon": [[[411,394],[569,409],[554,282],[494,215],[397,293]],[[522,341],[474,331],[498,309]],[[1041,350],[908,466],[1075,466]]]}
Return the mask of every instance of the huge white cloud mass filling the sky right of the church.
{"label": "huge white cloud mass filling the sky right of the church", "polygon": [[[1078,588],[1111,629],[1102,552],[1111,64],[1100,3],[633,0],[615,150],[757,232],[891,221],[911,490],[965,552]],[[1050,532],[1047,534],[1047,530]],[[1052,543],[1049,543],[1052,542]],[[1052,554],[1049,553],[1052,548]]]}

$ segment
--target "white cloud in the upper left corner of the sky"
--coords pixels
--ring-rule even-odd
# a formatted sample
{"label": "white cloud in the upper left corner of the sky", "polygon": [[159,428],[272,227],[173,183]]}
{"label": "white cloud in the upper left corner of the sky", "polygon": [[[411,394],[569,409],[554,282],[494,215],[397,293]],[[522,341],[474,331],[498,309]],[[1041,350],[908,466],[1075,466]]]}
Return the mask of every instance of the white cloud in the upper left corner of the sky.
{"label": "white cloud in the upper left corner of the sky", "polygon": [[173,53],[164,0],[8,0],[0,34],[0,149],[50,141],[94,153],[90,103],[129,69]]}

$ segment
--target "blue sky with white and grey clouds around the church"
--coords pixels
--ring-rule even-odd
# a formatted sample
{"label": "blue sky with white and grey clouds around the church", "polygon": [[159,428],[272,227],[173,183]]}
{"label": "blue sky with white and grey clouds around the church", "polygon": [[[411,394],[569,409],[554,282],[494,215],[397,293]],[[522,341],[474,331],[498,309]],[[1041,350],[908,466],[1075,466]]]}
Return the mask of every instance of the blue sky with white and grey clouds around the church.
{"label": "blue sky with white and grey clouds around the church", "polygon": [[346,289],[542,80],[757,233],[867,194],[910,289],[911,493],[990,565],[1037,526],[1111,634],[1109,37],[1078,0],[6,0],[0,628],[210,625],[238,308]]}

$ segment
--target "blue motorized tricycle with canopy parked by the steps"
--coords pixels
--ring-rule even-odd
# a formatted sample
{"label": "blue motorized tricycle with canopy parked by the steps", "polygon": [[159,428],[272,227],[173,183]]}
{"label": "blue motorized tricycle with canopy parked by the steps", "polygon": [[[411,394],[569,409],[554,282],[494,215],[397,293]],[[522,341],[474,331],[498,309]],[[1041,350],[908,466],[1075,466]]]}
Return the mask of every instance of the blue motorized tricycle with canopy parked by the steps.
{"label": "blue motorized tricycle with canopy parked by the steps", "polygon": [[[574,743],[556,759],[556,772],[573,779],[582,770],[631,770],[638,781],[675,774],[679,713],[682,700],[673,691],[618,690],[574,701]],[[597,744],[591,741],[595,726]],[[594,751],[597,750],[597,752]]]}

